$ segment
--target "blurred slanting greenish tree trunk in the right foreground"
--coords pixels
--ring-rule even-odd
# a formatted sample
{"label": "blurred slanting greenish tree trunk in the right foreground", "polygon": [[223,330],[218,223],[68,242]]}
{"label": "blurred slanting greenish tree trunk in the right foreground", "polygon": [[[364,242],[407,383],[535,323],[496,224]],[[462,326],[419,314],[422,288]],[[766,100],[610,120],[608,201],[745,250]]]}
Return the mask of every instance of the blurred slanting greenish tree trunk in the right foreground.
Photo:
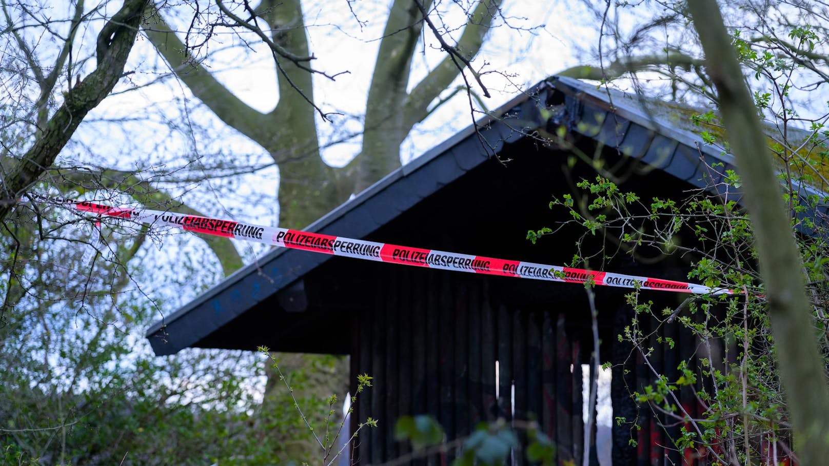
{"label": "blurred slanting greenish tree trunk in the right foreground", "polygon": [[715,0],[691,0],[689,7],[705,51],[708,74],[720,94],[720,111],[754,225],[755,248],[797,454],[803,466],[825,464],[829,458],[829,389],[789,212],[783,205],[783,192],[757,109],[744,84],[720,9]]}

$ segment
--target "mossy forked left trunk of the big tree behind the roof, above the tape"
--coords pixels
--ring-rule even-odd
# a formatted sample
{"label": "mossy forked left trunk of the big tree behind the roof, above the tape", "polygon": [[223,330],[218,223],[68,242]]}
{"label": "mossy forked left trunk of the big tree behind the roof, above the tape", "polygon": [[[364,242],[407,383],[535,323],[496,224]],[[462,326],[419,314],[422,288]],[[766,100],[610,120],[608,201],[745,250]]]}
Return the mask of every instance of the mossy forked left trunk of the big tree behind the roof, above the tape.
{"label": "mossy forked left trunk of the big tree behind the roof, above the tape", "polygon": [[[274,56],[279,104],[263,114],[242,102],[214,78],[210,71],[193,61],[181,39],[163,21],[155,7],[143,27],[153,46],[193,95],[207,105],[219,119],[245,134],[268,151],[279,166],[279,226],[303,228],[347,199],[335,178],[336,169],[328,167],[319,155],[313,77],[292,61]],[[272,41],[295,56],[308,56],[302,5],[299,0],[264,0],[257,8],[270,29]]]}

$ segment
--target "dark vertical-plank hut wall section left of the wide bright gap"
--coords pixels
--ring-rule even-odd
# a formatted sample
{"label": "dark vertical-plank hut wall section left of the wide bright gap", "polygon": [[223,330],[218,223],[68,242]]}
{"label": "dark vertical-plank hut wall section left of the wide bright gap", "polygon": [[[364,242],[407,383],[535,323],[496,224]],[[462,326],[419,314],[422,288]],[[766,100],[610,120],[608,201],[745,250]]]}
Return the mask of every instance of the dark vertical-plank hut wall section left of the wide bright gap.
{"label": "dark vertical-plank hut wall section left of the wide bright gap", "polygon": [[450,442],[482,421],[536,420],[558,445],[560,464],[581,464],[582,349],[566,326],[570,309],[511,305],[472,274],[400,267],[374,283],[376,302],[352,329],[352,373],[374,377],[356,421],[378,420],[358,437],[361,464],[409,454],[394,439],[395,420],[422,414],[439,420]]}

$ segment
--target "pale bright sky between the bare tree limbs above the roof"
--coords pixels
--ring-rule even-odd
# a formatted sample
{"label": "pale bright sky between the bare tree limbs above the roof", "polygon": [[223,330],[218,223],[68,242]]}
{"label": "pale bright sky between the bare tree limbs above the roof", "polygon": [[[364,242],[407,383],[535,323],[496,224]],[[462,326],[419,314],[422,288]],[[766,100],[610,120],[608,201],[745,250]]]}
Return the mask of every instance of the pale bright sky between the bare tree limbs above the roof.
{"label": "pale bright sky between the bare tree limbs above the roof", "polygon": [[[351,17],[345,2],[333,7],[332,2],[303,4],[309,44],[317,57],[313,66],[329,74],[347,71],[336,80],[320,75],[314,80],[318,105],[325,111],[342,113],[332,115],[332,122],[318,117],[323,158],[336,166],[347,163],[360,150],[361,114],[376,60],[377,39],[388,11],[386,2],[355,2],[354,7],[357,17],[366,22],[362,27]],[[453,4],[439,5],[439,9],[445,12],[440,19],[448,28],[463,24],[465,18]],[[584,59],[579,55],[594,46],[597,33],[586,24],[579,26],[582,21],[574,19],[573,15],[584,17],[583,10],[578,4],[528,0],[505,3],[508,25],[500,24],[492,30],[473,61],[484,71],[482,80],[492,93],[492,98],[484,99],[488,109],[497,109],[547,75]],[[189,26],[191,15],[186,5],[165,10],[167,21],[182,31]],[[568,46],[574,36],[581,37],[579,51]],[[191,41],[198,39],[194,36]],[[85,41],[88,45],[89,35]],[[445,56],[428,31],[421,34],[419,51],[423,53],[415,56],[410,86]],[[252,35],[217,28],[216,36],[197,52],[196,59],[205,60],[203,63],[216,78],[253,108],[267,112],[279,101],[273,58]],[[177,170],[153,181],[211,215],[273,224],[279,174],[264,149],[216,119],[192,97],[187,86],[167,75],[166,64],[143,37],[138,39],[128,70],[133,73],[122,80],[117,88],[120,92],[104,100],[81,125],[75,145],[61,154],[64,162],[149,169],[149,173]],[[470,82],[473,91],[480,94],[478,86]],[[450,90],[462,83],[458,78]],[[482,113],[475,116],[480,118]],[[402,160],[405,163],[419,156],[471,124],[472,118],[467,95],[458,93],[414,127],[402,145]],[[327,147],[341,139],[342,143]],[[230,165],[269,167],[240,177],[213,176],[213,168]],[[199,177],[207,179],[193,181]],[[264,251],[260,249],[259,253]]]}

